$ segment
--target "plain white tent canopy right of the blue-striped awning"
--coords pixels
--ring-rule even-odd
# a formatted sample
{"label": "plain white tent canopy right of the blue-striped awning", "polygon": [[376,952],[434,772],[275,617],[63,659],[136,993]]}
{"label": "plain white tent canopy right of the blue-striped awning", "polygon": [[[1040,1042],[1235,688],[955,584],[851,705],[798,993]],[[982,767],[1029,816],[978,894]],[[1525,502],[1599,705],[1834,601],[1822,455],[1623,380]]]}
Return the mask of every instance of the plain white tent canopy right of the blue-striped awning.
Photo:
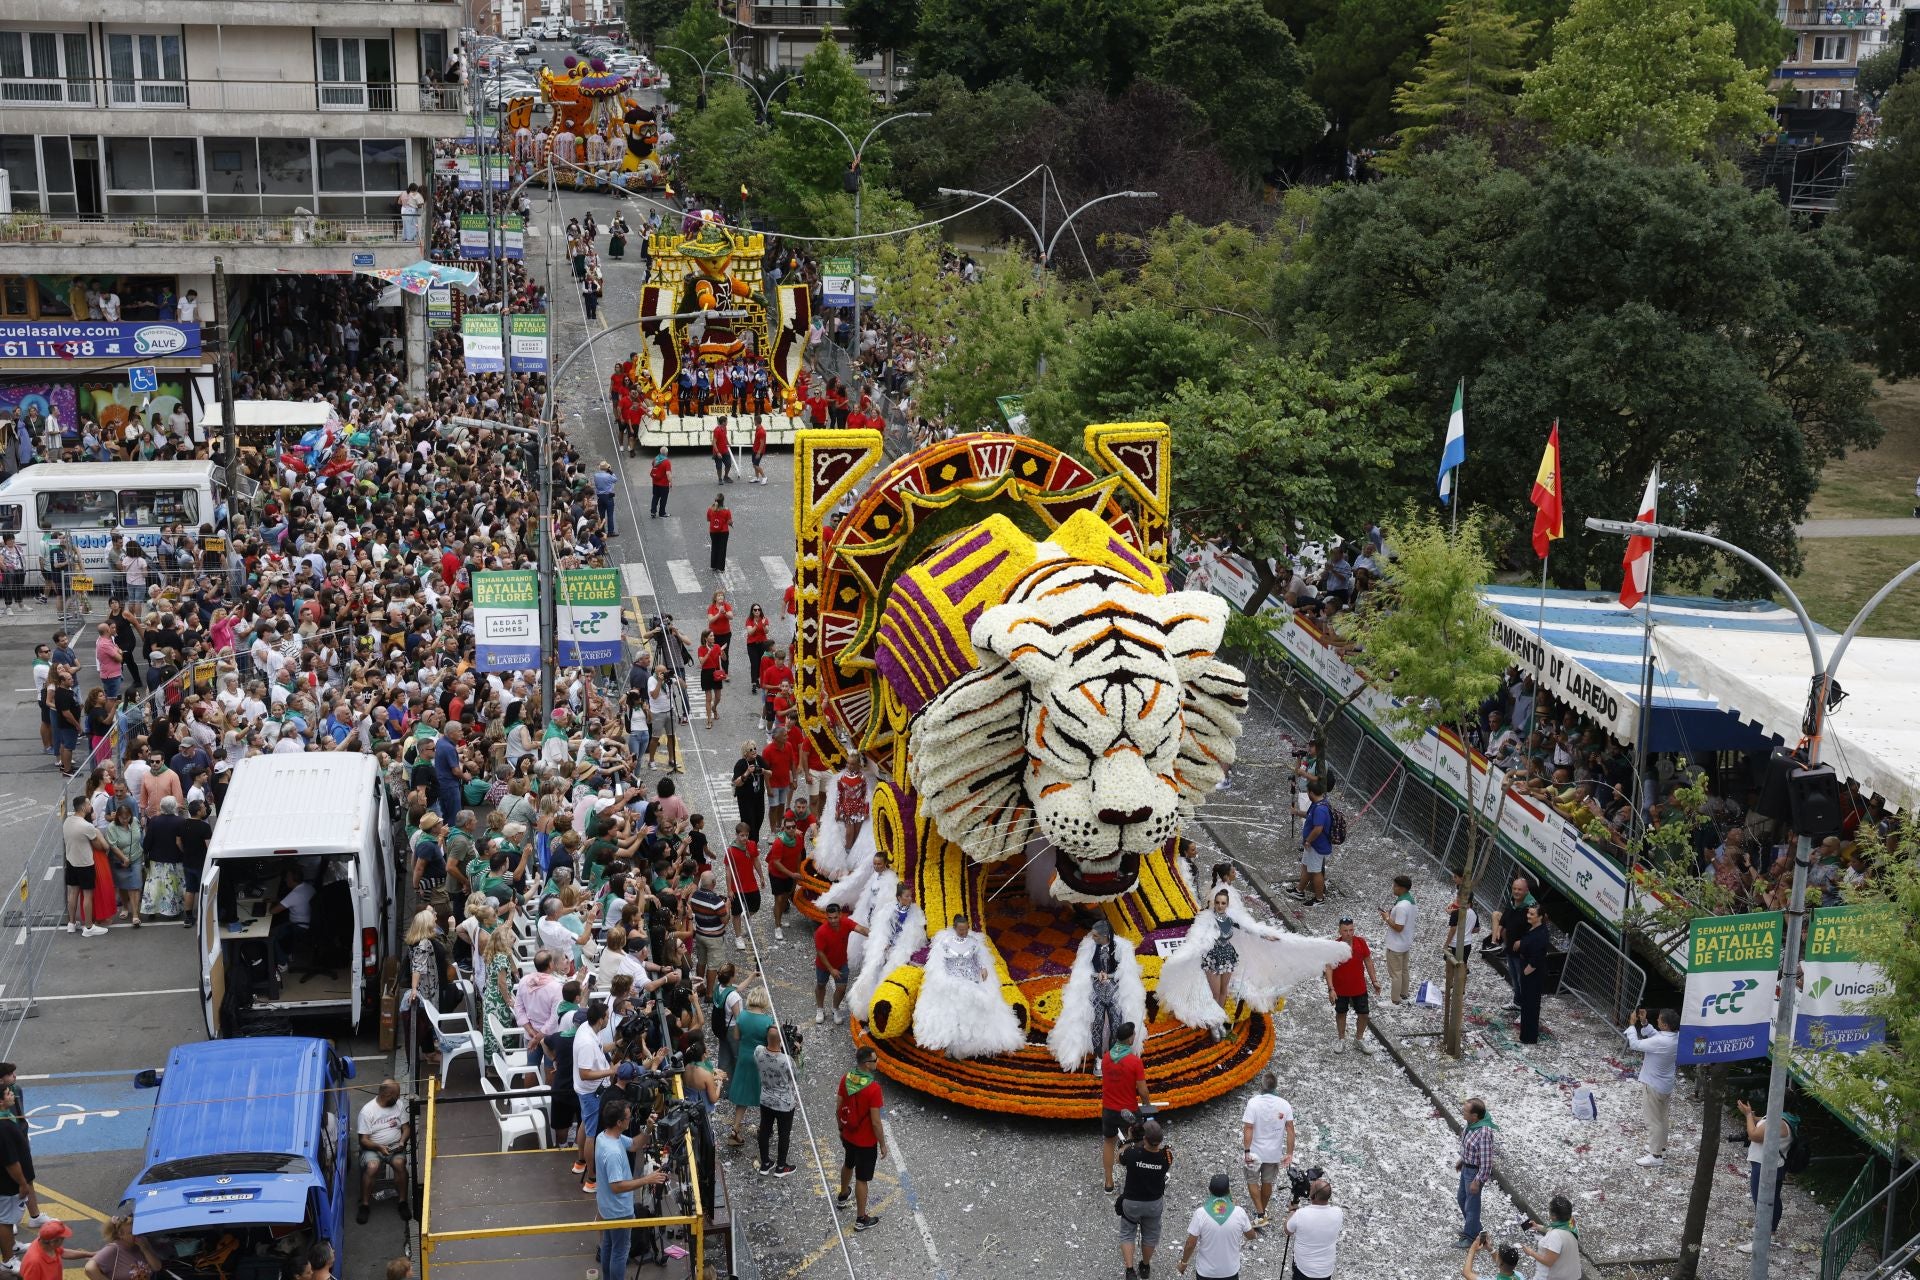
{"label": "plain white tent canopy right of the blue-striped awning", "polygon": [[[1822,660],[1837,635],[1820,635]],[[1812,666],[1799,633],[1655,628],[1661,664],[1711,693],[1720,706],[1795,743]],[[1820,760],[1887,804],[1920,800],[1920,641],[1855,637],[1834,672],[1847,700],[1826,718]]]}

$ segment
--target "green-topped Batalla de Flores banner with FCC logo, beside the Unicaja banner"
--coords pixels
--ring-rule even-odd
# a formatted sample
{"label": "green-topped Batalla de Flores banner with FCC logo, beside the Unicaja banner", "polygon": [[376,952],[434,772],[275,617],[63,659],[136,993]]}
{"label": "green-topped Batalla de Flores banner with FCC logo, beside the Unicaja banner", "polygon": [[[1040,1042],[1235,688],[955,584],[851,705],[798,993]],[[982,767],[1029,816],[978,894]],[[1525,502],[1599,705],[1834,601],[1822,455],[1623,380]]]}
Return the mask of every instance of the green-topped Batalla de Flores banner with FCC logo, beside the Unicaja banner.
{"label": "green-topped Batalla de Flores banner with FCC logo, beside the Unicaja banner", "polygon": [[1780,979],[1780,912],[1703,915],[1688,929],[1680,1061],[1764,1057]]}

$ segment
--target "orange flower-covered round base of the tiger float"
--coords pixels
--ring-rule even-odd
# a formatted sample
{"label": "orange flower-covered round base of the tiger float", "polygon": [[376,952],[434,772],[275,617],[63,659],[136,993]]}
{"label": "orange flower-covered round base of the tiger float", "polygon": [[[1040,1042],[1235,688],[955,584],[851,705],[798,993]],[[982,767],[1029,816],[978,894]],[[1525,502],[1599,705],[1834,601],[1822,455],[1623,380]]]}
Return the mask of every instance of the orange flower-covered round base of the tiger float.
{"label": "orange flower-covered round base of the tiger float", "polygon": [[[801,892],[795,908],[812,921],[826,919],[814,906],[814,896],[826,892],[829,881],[812,862],[801,871]],[[887,1079],[910,1084],[924,1094],[945,1098],[981,1111],[1016,1111],[1062,1121],[1085,1121],[1100,1115],[1100,1077],[1087,1071],[1060,1069],[1046,1050],[1046,1032],[1060,1015],[1060,994],[1081,935],[1071,913],[1056,908],[1033,908],[1025,894],[989,898],[989,923],[996,938],[1021,938],[1018,950],[1002,946],[1008,975],[1020,983],[1033,1006],[1033,1025],[1027,1046],[1018,1054],[995,1057],[952,1059],[924,1050],[910,1036],[879,1040],[866,1034],[862,1019],[852,1021],[856,1044],[872,1044],[879,1052],[879,1071]],[[1156,1009],[1148,996],[1148,1013]],[[1194,1031],[1171,1017],[1152,1015],[1146,1027],[1146,1088],[1162,1109],[1192,1107],[1229,1094],[1252,1080],[1273,1055],[1273,1019],[1263,1013],[1235,1009],[1236,1017],[1227,1038],[1215,1042],[1206,1031]]]}

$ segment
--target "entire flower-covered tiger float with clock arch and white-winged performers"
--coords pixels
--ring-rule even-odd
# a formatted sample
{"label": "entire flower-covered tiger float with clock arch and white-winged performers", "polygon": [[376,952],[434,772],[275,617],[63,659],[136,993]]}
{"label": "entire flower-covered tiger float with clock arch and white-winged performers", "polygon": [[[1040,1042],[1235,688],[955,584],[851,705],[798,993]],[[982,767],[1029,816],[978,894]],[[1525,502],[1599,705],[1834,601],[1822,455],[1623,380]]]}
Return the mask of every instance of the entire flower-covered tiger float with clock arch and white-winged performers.
{"label": "entire flower-covered tiger float with clock arch and white-winged performers", "polygon": [[1196,883],[1185,829],[1246,710],[1227,606],[1169,589],[1165,424],[1083,443],[1092,466],[1006,434],[891,466],[879,432],[795,441],[801,731],[877,770],[851,844],[829,787],[803,910],[870,929],[851,1011],[883,1073],[1050,1117],[1100,1113],[1117,1021],[1162,1107],[1233,1090],[1283,994],[1348,954]]}

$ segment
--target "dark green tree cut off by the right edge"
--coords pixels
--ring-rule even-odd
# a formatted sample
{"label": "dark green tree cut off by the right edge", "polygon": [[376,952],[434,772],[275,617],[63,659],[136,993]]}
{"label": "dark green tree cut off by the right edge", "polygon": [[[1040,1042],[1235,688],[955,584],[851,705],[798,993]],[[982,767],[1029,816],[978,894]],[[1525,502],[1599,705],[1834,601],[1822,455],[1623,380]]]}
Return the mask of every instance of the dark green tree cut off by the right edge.
{"label": "dark green tree cut off by the right edge", "polygon": [[1920,374],[1920,75],[1880,104],[1880,140],[1855,152],[1839,215],[1870,255],[1874,359],[1889,378]]}

